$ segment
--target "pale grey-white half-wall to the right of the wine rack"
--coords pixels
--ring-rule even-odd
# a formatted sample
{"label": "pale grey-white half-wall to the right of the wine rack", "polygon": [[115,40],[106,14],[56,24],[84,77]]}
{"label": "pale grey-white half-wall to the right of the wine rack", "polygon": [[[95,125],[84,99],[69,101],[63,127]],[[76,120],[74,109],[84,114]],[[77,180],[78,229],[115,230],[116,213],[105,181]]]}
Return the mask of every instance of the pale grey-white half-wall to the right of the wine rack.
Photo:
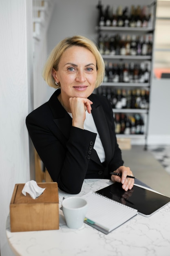
{"label": "pale grey-white half-wall to the right of the wine rack", "polygon": [[152,79],[148,144],[170,145],[170,79]]}

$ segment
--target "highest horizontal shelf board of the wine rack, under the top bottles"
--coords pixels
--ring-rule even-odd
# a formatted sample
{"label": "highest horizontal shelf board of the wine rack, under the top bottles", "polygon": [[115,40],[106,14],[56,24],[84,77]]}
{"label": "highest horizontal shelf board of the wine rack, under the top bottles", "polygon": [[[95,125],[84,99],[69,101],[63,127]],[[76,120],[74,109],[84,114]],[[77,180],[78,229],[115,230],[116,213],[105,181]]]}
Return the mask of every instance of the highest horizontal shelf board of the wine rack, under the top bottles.
{"label": "highest horizontal shelf board of the wine rack, under the top bottles", "polygon": [[129,31],[129,32],[152,32],[153,29],[152,27],[106,27],[106,26],[101,26],[97,27],[100,31]]}

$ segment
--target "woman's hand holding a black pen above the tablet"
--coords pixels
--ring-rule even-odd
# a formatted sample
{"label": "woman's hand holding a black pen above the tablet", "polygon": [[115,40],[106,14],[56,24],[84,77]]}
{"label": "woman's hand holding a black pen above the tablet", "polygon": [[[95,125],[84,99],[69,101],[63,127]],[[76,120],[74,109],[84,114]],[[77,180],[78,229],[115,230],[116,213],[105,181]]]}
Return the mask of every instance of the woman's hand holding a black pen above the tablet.
{"label": "woman's hand holding a black pen above the tablet", "polygon": [[114,171],[114,173],[121,173],[121,177],[111,175],[111,180],[113,182],[121,182],[121,184],[123,184],[122,189],[124,189],[125,191],[128,191],[128,189],[132,189],[134,185],[134,179],[126,177],[127,175],[133,176],[133,173],[132,171],[130,171],[129,167],[120,166],[119,168],[117,168],[116,171]]}

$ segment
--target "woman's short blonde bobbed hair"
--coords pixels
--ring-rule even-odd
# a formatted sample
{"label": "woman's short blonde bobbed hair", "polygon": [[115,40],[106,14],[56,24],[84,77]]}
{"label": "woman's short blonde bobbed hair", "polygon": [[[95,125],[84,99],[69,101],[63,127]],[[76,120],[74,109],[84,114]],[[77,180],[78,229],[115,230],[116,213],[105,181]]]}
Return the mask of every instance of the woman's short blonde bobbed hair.
{"label": "woman's short blonde bobbed hair", "polygon": [[44,70],[42,73],[44,80],[49,86],[55,89],[60,87],[60,83],[58,85],[55,84],[55,80],[52,75],[52,70],[53,68],[56,71],[58,70],[58,64],[60,62],[62,54],[66,49],[72,46],[85,47],[86,49],[91,51],[92,54],[95,56],[96,68],[97,68],[97,79],[96,79],[95,88],[97,88],[99,85],[101,85],[104,79],[104,75],[105,75],[104,60],[101,54],[99,53],[97,45],[95,45],[95,43],[93,43],[90,39],[84,36],[67,37],[54,47],[54,49],[51,51],[51,54],[49,55],[49,58],[46,61],[46,64],[44,65]]}

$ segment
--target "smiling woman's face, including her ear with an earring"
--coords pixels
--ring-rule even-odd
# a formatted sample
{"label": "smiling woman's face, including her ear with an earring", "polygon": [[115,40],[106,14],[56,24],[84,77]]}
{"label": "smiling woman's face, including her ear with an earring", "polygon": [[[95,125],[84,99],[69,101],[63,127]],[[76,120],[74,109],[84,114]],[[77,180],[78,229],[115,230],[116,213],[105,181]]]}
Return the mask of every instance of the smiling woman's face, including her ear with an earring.
{"label": "smiling woman's face, including her ear with an earring", "polygon": [[53,76],[60,82],[63,100],[87,98],[95,89],[97,79],[95,56],[84,47],[72,46],[63,53]]}

